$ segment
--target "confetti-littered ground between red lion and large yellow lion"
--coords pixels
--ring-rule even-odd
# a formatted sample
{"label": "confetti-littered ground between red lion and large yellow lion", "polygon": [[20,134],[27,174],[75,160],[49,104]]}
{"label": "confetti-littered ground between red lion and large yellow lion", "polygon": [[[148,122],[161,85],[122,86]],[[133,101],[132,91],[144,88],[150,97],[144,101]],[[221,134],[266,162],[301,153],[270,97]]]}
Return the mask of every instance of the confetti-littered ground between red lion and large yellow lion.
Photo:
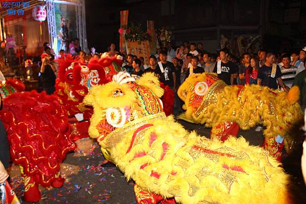
{"label": "confetti-littered ground between red lion and large yellow lion", "polygon": [[[61,164],[61,176],[65,177],[63,187],[40,187],[41,200],[38,203],[136,203],[134,183],[127,183],[115,166],[101,166],[106,163],[96,142],[81,139],[78,150],[68,154]],[[20,202],[28,204],[22,200],[24,184],[18,166],[13,165],[10,172]]]}

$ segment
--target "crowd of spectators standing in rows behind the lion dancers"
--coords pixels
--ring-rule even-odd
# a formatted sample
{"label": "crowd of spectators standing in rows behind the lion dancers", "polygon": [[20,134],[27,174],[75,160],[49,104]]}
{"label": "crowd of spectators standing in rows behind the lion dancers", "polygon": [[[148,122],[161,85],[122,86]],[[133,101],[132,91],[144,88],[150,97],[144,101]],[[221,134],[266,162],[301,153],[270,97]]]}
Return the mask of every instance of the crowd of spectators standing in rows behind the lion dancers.
{"label": "crowd of spectators standing in rows behind the lion dancers", "polygon": [[[78,39],[72,44],[70,54],[77,56],[81,65],[88,64],[91,58],[98,60],[105,56],[121,55],[123,57],[122,66],[133,77],[139,78],[145,72],[153,72],[174,92],[190,74],[214,72],[227,85],[258,84],[286,92],[293,85],[298,85],[302,96],[301,105],[306,104],[306,86],[304,87],[303,80],[306,75],[303,71],[306,47],[302,48],[299,53],[274,53],[265,49],[251,50],[249,48],[248,52],[237,57],[226,48],[216,53],[209,53],[204,49],[202,43],[185,41],[175,49],[171,43],[164,48],[157,48],[156,54],[150,56],[146,64],[143,57],[132,54],[124,55],[116,51],[115,43],[110,43],[108,51],[103,54],[97,53],[93,46],[86,54],[78,46]],[[80,52],[76,54],[75,50],[79,49]],[[54,58],[53,50],[49,46],[45,46],[45,53],[51,56],[50,59]],[[60,50],[59,56],[64,57],[65,51]],[[174,110],[174,113],[179,112]]]}

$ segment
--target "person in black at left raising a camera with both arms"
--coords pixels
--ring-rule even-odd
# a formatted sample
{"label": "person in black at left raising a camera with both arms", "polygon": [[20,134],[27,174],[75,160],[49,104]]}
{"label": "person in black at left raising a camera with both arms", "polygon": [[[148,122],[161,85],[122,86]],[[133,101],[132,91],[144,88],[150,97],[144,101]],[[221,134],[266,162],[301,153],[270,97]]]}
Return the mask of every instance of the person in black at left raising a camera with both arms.
{"label": "person in black at left raising a camera with both arms", "polygon": [[55,91],[56,68],[53,64],[52,58],[44,53],[41,55],[40,78],[42,82],[43,91],[47,94],[53,94]]}

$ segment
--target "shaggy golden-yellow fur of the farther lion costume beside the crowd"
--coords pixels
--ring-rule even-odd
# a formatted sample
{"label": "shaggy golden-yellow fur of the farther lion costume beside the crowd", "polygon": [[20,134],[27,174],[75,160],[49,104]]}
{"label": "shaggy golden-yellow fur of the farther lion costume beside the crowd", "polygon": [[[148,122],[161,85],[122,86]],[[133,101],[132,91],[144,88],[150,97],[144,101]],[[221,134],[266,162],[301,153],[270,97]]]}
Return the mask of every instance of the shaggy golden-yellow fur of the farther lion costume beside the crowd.
{"label": "shaggy golden-yellow fur of the farther lion costume beside the crowd", "polygon": [[[205,79],[205,73],[188,78],[179,88],[180,98],[185,99],[185,118],[187,121],[205,124],[214,127],[222,122],[234,121],[242,130],[248,130],[256,124],[262,123],[267,129],[266,138],[277,134],[285,137],[285,148],[290,153],[293,135],[290,134],[292,125],[298,124],[302,119],[302,111],[296,103],[299,91],[296,87],[289,93],[271,90],[258,85],[245,85],[240,92],[237,86],[225,86],[221,90],[204,96],[199,108],[194,108],[190,101],[194,98],[194,91],[190,88],[198,80]],[[204,80],[203,80],[204,81]],[[210,88],[211,90],[212,88]],[[187,92],[182,96],[182,92]],[[275,92],[277,95],[275,95]],[[206,100],[213,100],[205,106]],[[184,117],[180,117],[184,119]]]}

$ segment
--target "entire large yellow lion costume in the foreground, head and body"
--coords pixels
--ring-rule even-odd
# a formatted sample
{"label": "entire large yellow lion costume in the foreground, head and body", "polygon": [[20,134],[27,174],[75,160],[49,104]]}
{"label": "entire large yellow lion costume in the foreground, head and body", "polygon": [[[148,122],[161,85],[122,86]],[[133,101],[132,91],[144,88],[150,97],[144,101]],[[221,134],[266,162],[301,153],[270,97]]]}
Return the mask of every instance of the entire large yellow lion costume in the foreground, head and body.
{"label": "entire large yellow lion costume in the foreground, head and body", "polygon": [[186,131],[165,116],[162,95],[153,74],[136,83],[120,72],[84,99],[94,108],[89,135],[136,182],[137,203],[290,203],[288,175],[266,150]]}

